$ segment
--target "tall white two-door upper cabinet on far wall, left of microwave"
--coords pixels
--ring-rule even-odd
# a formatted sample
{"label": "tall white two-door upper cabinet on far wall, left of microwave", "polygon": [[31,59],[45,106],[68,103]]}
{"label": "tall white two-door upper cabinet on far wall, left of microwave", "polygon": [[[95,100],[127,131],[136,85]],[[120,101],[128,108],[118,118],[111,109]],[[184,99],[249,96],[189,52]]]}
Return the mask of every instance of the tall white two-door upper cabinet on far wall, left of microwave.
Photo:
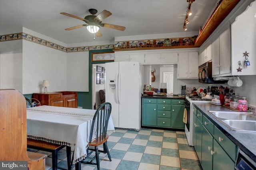
{"label": "tall white two-door upper cabinet on far wall, left of microwave", "polygon": [[182,52],[178,58],[178,78],[198,78],[198,52]]}

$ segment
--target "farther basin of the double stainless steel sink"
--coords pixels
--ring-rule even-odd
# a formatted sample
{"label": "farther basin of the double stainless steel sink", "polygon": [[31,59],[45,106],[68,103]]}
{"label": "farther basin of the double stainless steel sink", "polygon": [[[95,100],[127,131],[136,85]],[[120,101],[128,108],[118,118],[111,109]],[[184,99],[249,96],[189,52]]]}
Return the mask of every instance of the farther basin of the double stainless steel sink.
{"label": "farther basin of the double stainless steel sink", "polygon": [[245,112],[232,112],[232,111],[209,111],[219,119],[232,119],[232,120],[250,120],[256,121],[256,117],[252,113]]}

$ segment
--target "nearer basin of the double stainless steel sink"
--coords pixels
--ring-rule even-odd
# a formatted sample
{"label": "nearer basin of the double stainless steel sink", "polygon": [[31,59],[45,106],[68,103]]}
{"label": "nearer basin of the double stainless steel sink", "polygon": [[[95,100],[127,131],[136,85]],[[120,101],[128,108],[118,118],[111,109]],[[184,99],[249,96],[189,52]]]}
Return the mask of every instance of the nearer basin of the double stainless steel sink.
{"label": "nearer basin of the double stainless steel sink", "polygon": [[224,120],[223,122],[236,131],[256,132],[256,121]]}

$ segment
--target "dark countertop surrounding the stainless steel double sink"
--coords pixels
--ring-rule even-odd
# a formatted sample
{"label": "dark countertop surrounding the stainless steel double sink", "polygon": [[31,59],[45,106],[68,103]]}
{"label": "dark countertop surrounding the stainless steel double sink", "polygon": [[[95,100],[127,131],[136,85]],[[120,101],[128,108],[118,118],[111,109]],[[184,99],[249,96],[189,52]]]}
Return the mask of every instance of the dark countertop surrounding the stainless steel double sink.
{"label": "dark countertop surrounding the stainless steel double sink", "polygon": [[233,131],[221,121],[216,119],[208,111],[232,111],[223,106],[213,104],[193,103],[220,131],[222,131],[231,141],[243,150],[254,162],[256,162],[256,132]]}

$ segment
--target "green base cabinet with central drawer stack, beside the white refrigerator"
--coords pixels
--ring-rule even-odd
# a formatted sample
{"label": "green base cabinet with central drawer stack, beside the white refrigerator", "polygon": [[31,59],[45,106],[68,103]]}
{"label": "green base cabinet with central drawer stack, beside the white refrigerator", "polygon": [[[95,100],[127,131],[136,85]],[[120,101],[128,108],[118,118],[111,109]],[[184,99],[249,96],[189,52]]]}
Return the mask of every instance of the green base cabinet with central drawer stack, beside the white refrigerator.
{"label": "green base cabinet with central drawer stack, beside the white refrigerator", "polygon": [[184,129],[184,100],[142,98],[142,126]]}

